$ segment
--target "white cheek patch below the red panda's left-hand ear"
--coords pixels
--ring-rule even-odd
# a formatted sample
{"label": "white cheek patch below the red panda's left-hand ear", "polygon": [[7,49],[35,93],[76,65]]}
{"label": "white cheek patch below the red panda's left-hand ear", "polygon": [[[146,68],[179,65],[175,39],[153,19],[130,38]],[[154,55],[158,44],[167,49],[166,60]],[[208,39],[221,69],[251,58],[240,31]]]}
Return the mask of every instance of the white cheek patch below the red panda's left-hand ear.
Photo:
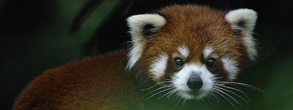
{"label": "white cheek patch below the red panda's left-hand ear", "polygon": [[149,72],[152,74],[153,79],[159,79],[165,74],[167,68],[168,55],[166,53],[161,53],[159,57],[156,57],[154,63],[150,65],[151,69]]}

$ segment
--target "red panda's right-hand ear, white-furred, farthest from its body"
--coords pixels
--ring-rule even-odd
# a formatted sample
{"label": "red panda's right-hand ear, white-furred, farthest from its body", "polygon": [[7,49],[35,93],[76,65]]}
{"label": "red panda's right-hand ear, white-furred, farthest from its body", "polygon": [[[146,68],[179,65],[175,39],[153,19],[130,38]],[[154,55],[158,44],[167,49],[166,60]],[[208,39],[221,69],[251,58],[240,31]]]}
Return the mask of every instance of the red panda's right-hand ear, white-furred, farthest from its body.
{"label": "red panda's right-hand ear, white-furred, farthest from its body", "polygon": [[242,38],[249,58],[254,61],[257,52],[255,39],[252,37],[252,34],[257,13],[251,9],[237,9],[227,13],[225,18],[231,24],[235,35]]}

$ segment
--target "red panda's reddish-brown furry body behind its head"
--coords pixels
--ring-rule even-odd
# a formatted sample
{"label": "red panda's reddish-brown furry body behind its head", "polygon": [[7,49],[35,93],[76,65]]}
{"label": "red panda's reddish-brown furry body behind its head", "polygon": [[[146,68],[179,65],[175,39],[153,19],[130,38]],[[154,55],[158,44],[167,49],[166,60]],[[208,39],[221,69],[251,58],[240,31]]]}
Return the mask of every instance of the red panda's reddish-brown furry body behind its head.
{"label": "red panda's reddish-brown furry body behind its head", "polygon": [[22,91],[13,110],[141,108],[142,95],[125,71],[125,55],[120,50],[47,70]]}

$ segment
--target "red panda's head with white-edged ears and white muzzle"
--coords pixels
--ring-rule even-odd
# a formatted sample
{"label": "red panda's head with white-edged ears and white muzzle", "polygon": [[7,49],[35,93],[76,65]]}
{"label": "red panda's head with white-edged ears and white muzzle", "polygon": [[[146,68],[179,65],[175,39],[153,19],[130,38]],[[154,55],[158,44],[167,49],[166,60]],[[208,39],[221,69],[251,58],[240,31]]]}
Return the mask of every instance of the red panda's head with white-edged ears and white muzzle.
{"label": "red panda's head with white-edged ears and white muzzle", "polygon": [[251,34],[256,18],[251,9],[226,13],[197,5],[131,16],[126,68],[146,82],[165,84],[170,93],[200,99],[217,81],[233,81],[247,62],[254,61]]}

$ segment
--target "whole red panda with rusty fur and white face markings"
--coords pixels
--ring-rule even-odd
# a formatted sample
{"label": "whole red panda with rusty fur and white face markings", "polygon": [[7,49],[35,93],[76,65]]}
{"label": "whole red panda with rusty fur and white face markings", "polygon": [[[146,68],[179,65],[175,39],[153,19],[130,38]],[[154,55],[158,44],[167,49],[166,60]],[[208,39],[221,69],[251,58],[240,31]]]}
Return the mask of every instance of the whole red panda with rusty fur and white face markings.
{"label": "whole red panda with rusty fur and white face markings", "polygon": [[152,97],[223,96],[226,82],[257,56],[256,18],[251,9],[223,12],[198,5],[130,16],[128,50],[44,71],[13,110],[151,110],[146,99]]}

